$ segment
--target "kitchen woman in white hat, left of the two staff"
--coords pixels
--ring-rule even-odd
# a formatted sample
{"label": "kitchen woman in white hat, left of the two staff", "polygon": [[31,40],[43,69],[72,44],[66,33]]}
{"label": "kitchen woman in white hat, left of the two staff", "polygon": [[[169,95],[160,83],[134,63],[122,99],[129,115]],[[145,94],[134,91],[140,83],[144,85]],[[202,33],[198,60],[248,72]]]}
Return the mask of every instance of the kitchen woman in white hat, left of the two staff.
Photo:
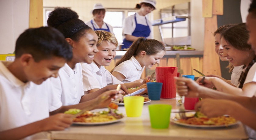
{"label": "kitchen woman in white hat, left of the two staff", "polygon": [[91,29],[94,31],[104,30],[113,33],[113,27],[103,21],[105,17],[106,9],[103,7],[101,3],[96,3],[91,10],[91,14],[93,15],[93,19],[86,22]]}

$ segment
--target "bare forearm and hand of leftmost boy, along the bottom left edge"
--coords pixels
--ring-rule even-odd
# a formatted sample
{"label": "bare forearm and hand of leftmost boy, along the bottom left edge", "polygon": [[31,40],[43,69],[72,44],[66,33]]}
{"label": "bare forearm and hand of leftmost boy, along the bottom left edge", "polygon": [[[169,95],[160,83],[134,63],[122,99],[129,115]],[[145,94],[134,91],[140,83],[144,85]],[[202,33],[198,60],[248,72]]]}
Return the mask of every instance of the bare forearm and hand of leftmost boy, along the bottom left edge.
{"label": "bare forearm and hand of leftmost boy, along the bottom left edge", "polygon": [[0,132],[1,139],[22,139],[42,131],[64,130],[72,124],[72,116],[70,114],[56,114],[41,121],[2,131]]}

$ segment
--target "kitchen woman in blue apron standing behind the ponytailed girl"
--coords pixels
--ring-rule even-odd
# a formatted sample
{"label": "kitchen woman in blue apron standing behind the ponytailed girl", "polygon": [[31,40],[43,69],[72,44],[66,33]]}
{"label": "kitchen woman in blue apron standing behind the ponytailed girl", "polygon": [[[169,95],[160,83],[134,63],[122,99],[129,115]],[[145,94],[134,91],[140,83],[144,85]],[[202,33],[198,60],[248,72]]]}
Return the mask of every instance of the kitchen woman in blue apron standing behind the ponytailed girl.
{"label": "kitchen woman in blue apron standing behind the ponytailed girl", "polygon": [[145,16],[155,10],[155,4],[155,0],[143,0],[136,5],[139,10],[124,20],[122,50],[129,48],[139,37],[152,39],[151,23]]}

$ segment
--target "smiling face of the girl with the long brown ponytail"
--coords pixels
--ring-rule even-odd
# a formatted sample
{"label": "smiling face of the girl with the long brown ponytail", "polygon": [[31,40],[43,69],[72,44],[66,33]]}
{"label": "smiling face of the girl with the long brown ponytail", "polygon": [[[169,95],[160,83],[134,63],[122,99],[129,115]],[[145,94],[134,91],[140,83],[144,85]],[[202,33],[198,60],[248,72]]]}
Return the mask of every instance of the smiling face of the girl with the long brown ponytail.
{"label": "smiling face of the girl with the long brown ponytail", "polygon": [[[146,52],[145,52],[146,53]],[[142,60],[142,67],[145,66],[147,68],[152,68],[153,65],[159,64],[160,60],[164,57],[165,51],[160,51],[157,54],[153,55],[145,55],[143,60]]]}

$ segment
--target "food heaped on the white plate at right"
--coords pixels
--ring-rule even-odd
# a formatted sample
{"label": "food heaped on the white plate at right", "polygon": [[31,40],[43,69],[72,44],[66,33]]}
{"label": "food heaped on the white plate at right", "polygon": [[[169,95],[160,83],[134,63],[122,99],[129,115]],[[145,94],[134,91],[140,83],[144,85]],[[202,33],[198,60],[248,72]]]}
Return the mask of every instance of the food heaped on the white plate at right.
{"label": "food heaped on the white plate at right", "polygon": [[196,112],[196,114],[192,116],[190,115],[187,119],[180,119],[179,114],[177,113],[175,117],[172,117],[171,121],[181,126],[194,128],[223,128],[238,123],[235,118],[228,115],[208,118],[200,112]]}

